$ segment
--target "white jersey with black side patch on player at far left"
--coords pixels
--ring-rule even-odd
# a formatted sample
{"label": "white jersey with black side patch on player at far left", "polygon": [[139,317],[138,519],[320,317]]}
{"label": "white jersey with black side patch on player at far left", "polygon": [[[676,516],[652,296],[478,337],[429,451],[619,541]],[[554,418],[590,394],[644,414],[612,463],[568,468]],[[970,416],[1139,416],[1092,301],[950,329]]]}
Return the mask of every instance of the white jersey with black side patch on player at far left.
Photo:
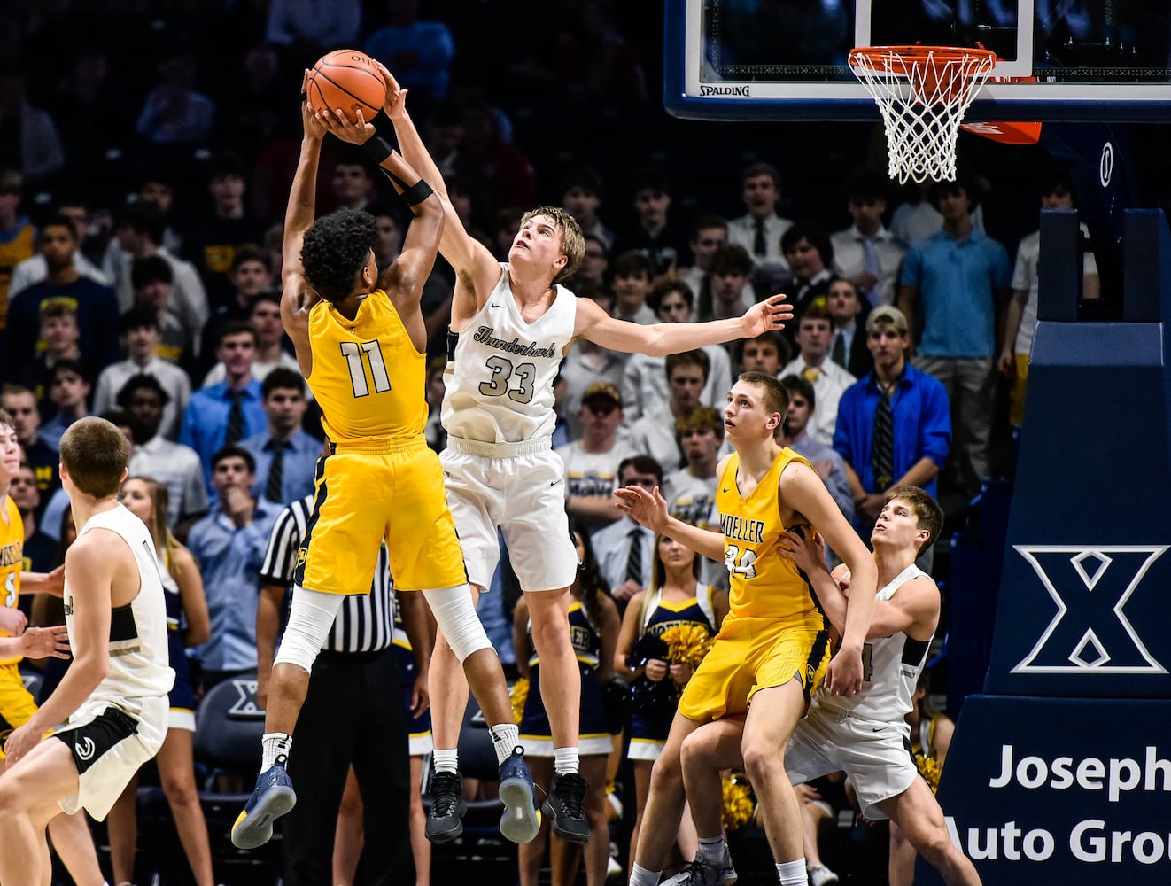
{"label": "white jersey with black side patch on player at far left", "polygon": [[[124,700],[166,695],[174,683],[174,672],[167,663],[166,602],[155,543],[146,524],[121,504],[90,517],[77,538],[94,529],[116,532],[126,543],[138,566],[139,588],[133,600],[110,613],[110,669],[87,703],[123,706]],[[74,645],[74,597],[68,575],[64,608],[69,642]]]}

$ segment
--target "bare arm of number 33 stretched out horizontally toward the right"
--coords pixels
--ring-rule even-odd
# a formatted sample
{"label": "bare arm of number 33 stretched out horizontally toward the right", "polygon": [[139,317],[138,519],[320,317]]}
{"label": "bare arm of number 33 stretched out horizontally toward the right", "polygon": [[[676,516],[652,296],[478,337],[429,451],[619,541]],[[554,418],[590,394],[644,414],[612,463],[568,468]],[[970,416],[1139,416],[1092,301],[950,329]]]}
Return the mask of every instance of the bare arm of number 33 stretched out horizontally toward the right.
{"label": "bare arm of number 33 stretched out horizontally toward the right", "polygon": [[754,339],[761,333],[780,332],[793,319],[787,295],[773,295],[753,305],[744,316],[711,320],[706,323],[632,323],[616,320],[589,299],[577,302],[575,336],[589,339],[610,350],[665,356],[682,350],[719,345],[733,339]]}

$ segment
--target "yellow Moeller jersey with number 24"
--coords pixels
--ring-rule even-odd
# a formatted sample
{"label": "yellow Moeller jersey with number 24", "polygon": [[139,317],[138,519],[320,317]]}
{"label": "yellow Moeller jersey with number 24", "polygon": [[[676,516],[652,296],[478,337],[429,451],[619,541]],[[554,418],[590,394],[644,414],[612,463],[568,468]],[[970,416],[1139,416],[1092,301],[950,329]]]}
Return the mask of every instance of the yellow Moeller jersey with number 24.
{"label": "yellow Moeller jersey with number 24", "polygon": [[804,574],[778,548],[787,527],[781,522],[779,484],[781,472],[793,462],[809,465],[790,449],[782,449],[768,472],[747,497],[737,486],[739,454],[728,458],[715,491],[715,506],[724,531],[724,563],[731,577],[728,614],[721,634],[739,627],[754,629],[749,620],[769,625],[804,625],[820,629],[824,623]]}

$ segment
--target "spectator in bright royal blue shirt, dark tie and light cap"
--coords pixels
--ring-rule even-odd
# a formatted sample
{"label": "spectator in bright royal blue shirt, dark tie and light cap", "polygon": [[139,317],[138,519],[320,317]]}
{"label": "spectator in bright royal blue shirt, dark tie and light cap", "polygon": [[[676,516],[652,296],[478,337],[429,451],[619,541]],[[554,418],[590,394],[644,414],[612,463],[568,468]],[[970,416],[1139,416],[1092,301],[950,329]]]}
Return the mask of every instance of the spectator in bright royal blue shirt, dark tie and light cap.
{"label": "spectator in bright royal blue shirt, dark tie and light cap", "polygon": [[[834,449],[845,459],[854,525],[863,538],[870,537],[883,495],[891,486],[915,485],[934,496],[936,477],[951,449],[947,391],[906,362],[910,341],[902,311],[890,305],[875,308],[867,318],[867,347],[875,368],[847,388],[837,404]],[[890,404],[891,417],[889,465],[883,465],[875,451],[875,416],[883,398]],[[920,563],[920,567],[927,570],[930,564]]]}

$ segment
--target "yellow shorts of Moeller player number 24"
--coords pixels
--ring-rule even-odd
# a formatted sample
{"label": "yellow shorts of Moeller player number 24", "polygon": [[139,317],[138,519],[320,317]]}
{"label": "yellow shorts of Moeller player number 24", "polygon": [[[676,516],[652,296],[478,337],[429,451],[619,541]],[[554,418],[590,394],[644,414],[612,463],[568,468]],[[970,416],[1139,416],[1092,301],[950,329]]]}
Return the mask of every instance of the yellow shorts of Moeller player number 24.
{"label": "yellow shorts of Moeller player number 24", "polygon": [[[759,623],[759,622],[758,622]],[[720,632],[679,698],[679,713],[706,723],[744,714],[761,689],[801,681],[806,700],[829,664],[829,632],[807,626]]]}

